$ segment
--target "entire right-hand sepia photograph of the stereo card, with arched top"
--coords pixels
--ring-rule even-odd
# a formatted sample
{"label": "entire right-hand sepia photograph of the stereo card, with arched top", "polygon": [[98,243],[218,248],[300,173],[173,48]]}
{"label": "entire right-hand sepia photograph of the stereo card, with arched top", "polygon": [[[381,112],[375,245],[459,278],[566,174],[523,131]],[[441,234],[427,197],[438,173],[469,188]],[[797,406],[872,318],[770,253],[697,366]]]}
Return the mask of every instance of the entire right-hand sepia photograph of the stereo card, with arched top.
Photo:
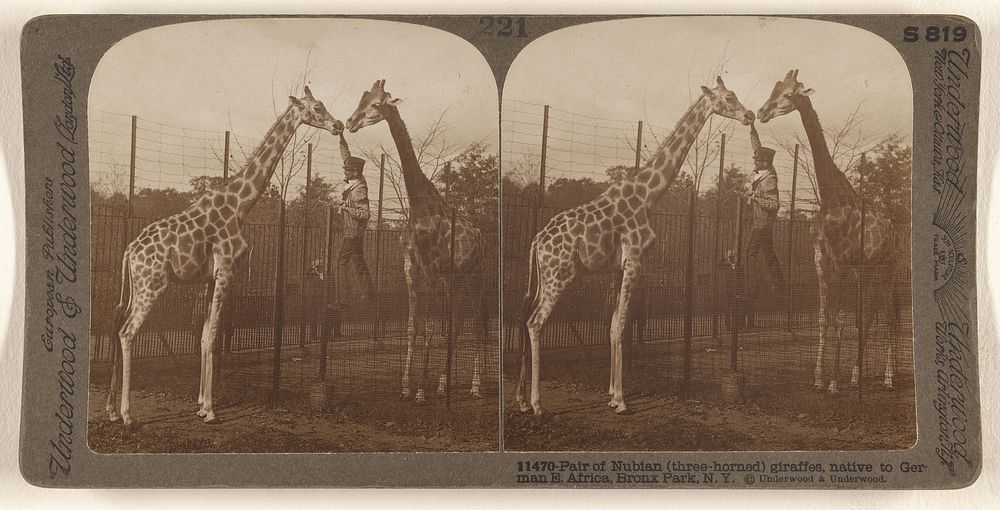
{"label": "entire right-hand sepia photograph of the stereo card, with arched top", "polygon": [[913,94],[838,23],[529,44],[501,96],[503,449],[916,441]]}

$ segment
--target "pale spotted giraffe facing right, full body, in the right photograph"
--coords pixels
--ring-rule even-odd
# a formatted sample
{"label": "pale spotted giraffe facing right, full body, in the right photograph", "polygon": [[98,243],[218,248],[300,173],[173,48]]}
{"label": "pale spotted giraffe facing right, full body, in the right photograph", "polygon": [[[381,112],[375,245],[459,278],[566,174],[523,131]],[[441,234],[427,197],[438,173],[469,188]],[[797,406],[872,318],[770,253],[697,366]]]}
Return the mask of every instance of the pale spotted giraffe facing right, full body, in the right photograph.
{"label": "pale spotted giraffe facing right, full body, in the right photograph", "polygon": [[619,271],[621,289],[611,318],[611,377],[608,406],[616,413],[628,412],[622,394],[622,333],[629,302],[639,279],[643,253],[653,244],[649,210],[666,194],[688,150],[712,114],[753,121],[736,94],[721,77],[716,87],[701,88],[701,95],[663,140],[651,162],[634,176],[611,185],[594,200],[554,216],[531,243],[528,292],[522,318],[522,338],[531,342],[531,405],[524,401],[528,350],[521,356],[517,403],[521,412],[542,414],[539,397],[540,343],[542,327],[560,296],[578,271]]}

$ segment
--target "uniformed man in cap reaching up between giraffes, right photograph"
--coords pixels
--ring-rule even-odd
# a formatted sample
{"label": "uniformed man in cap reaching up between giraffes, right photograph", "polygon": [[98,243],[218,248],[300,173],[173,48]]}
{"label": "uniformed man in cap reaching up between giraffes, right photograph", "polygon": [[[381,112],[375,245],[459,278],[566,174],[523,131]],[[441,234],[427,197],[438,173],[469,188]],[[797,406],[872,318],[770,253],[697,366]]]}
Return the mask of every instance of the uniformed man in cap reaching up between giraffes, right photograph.
{"label": "uniformed man in cap reaching up between giraffes, right photograph", "polygon": [[[750,123],[750,146],[753,148],[754,174],[751,177],[750,201],[752,226],[747,260],[764,258],[769,279],[768,290],[782,292],[785,279],[781,274],[778,255],[774,252],[774,219],[778,215],[778,174],[774,171],[774,149],[763,147],[757,127]],[[783,294],[782,294],[783,295]]]}

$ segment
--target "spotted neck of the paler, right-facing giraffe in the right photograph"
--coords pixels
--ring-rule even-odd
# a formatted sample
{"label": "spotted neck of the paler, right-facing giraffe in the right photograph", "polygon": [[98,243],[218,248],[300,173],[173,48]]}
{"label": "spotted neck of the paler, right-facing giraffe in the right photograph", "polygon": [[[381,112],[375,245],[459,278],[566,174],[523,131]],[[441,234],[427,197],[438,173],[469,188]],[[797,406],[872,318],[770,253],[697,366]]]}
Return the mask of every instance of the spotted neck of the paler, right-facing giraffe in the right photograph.
{"label": "spotted neck of the paler, right-facing giraffe in the right photograph", "polygon": [[703,95],[695,101],[660,144],[656,156],[636,175],[635,181],[647,186],[647,206],[659,202],[670,189],[695,138],[712,114],[711,106],[708,96]]}

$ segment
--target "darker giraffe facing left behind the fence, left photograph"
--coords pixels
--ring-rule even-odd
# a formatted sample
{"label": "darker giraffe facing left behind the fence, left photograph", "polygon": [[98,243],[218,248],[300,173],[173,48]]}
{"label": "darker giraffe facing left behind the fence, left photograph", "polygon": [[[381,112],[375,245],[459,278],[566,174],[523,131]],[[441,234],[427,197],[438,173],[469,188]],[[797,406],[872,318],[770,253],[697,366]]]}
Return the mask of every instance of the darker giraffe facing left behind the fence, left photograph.
{"label": "darker giraffe facing left behind the fence, left photograph", "polygon": [[[442,284],[444,277],[460,275],[462,292],[471,292],[471,306],[477,308],[479,321],[479,345],[475,349],[472,389],[470,394],[479,397],[480,372],[486,362],[485,350],[489,332],[489,284],[482,277],[492,279],[496,266],[495,259],[487,256],[485,239],[480,230],[462,218],[452,224],[451,207],[445,203],[434,184],[420,169],[413,142],[406,125],[399,115],[396,105],[402,100],[393,98],[385,91],[385,80],[377,80],[370,90],[361,95],[357,109],[348,117],[346,126],[351,133],[361,128],[378,124],[383,120],[389,125],[389,132],[399,153],[403,183],[409,202],[406,228],[400,235],[403,246],[403,272],[406,277],[408,297],[406,360],[403,364],[402,397],[410,397],[410,370],[418,331],[424,334],[424,359],[420,381],[417,383],[414,400],[424,401],[424,383],[427,380],[429,364],[430,335],[426,329],[425,305],[431,301],[427,294],[435,284]],[[454,228],[455,260],[451,266],[451,236]],[[472,278],[470,278],[472,277]],[[473,280],[479,281],[473,281]],[[448,296],[452,299],[452,296]],[[458,300],[461,302],[462,300]],[[447,375],[438,379],[438,394],[443,394]]]}

